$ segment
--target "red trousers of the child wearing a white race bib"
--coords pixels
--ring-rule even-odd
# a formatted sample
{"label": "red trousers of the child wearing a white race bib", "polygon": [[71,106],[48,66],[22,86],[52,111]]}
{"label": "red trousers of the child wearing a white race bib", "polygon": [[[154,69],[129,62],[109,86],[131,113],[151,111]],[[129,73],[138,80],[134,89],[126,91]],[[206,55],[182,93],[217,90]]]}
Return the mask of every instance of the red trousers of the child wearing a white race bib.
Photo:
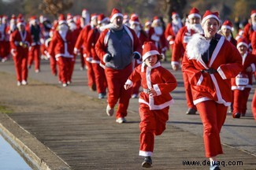
{"label": "red trousers of the child wearing a white race bib", "polygon": [[247,112],[247,101],[250,94],[250,88],[244,88],[243,91],[233,91],[233,114]]}

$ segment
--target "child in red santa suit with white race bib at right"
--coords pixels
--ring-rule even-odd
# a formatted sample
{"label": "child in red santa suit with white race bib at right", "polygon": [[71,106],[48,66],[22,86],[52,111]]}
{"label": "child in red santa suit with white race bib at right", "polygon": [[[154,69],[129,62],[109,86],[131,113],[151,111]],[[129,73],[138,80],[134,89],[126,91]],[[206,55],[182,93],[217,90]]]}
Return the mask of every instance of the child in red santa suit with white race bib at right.
{"label": "child in red santa suit with white race bib at right", "polygon": [[[243,58],[243,70],[239,72],[236,78],[231,79],[232,91],[233,91],[233,118],[239,118],[245,116],[247,111],[247,101],[252,87],[252,74],[256,68],[256,56],[247,52],[248,43],[247,39],[240,38],[236,46],[240,53],[244,53]],[[240,47],[240,48],[239,48]]]}

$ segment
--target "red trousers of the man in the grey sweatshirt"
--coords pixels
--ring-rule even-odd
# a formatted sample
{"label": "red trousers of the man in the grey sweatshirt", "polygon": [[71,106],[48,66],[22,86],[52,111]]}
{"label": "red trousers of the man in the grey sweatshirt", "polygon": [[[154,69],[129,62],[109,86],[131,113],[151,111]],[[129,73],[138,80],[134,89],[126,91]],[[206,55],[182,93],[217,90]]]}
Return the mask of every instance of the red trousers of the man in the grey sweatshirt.
{"label": "red trousers of the man in the grey sweatshirt", "polygon": [[124,83],[132,73],[132,64],[124,69],[105,68],[106,82],[108,84],[108,103],[113,108],[119,99],[116,117],[127,116],[129,100],[132,94],[132,88],[125,90]]}

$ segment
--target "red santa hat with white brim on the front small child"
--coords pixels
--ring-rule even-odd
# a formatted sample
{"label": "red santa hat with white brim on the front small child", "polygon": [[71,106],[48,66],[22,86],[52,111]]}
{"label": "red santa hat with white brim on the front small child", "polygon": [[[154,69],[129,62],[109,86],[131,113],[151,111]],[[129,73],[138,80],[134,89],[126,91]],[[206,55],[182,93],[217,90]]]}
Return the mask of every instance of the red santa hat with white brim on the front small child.
{"label": "red santa hat with white brim on the front small child", "polygon": [[158,55],[158,60],[161,60],[161,54],[158,52],[158,48],[154,45],[154,42],[144,42],[143,44],[143,61],[151,55]]}

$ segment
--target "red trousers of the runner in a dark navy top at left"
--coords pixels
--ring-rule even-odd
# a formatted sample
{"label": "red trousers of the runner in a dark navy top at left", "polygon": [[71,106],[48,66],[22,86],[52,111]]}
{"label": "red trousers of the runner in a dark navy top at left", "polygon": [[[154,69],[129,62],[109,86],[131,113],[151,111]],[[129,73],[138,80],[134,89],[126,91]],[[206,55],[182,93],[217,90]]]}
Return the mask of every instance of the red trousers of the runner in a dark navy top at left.
{"label": "red trousers of the runner in a dark navy top at left", "polygon": [[35,62],[35,70],[40,69],[40,45],[31,46],[28,54],[28,65],[31,66]]}

